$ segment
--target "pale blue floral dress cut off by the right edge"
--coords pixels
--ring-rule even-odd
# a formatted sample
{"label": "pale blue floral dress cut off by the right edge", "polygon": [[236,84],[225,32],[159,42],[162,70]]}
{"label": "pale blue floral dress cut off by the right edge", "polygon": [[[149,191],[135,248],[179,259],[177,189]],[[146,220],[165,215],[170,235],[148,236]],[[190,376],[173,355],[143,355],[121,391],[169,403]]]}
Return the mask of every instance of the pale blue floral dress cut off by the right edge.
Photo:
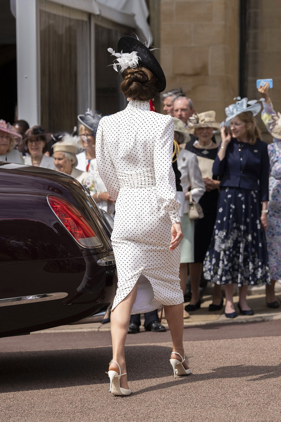
{"label": "pale blue floral dress cut off by the right edge", "polygon": [[[277,141],[277,140],[276,140]],[[270,277],[281,279],[281,141],[268,145],[270,162],[268,203],[268,260]]]}

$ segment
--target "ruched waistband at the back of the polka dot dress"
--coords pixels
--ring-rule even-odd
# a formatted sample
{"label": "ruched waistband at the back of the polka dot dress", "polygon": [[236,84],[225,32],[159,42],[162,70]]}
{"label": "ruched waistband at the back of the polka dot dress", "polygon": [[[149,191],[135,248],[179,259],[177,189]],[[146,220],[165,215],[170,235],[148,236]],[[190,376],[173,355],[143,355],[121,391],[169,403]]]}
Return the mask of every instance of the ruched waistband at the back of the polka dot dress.
{"label": "ruched waistband at the back of the polka dot dress", "polygon": [[117,172],[120,188],[122,187],[151,187],[156,186],[154,168],[125,173]]}

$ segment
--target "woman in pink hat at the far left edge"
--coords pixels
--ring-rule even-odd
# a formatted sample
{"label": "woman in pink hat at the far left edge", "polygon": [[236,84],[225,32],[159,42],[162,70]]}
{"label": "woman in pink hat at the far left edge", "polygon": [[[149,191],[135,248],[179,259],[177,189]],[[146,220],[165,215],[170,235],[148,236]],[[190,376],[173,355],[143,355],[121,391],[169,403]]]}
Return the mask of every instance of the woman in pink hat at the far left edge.
{"label": "woman in pink hat at the far left edge", "polygon": [[16,139],[21,141],[21,135],[10,123],[0,120],[0,161],[24,164],[21,153],[13,149],[16,146]]}

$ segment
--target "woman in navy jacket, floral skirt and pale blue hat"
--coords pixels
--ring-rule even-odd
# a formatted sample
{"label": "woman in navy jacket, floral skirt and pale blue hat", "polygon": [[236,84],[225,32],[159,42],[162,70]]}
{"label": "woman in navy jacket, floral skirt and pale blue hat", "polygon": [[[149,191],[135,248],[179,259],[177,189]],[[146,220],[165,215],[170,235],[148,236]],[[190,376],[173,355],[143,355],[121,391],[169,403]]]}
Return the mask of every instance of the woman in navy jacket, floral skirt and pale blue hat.
{"label": "woman in navy jacket, floral skirt and pale blue hat", "polygon": [[246,302],[248,286],[270,284],[265,239],[269,159],[252,111],[234,114],[230,130],[232,136],[225,127],[221,130],[213,165],[221,192],[204,276],[225,285],[225,316],[235,318],[233,283],[240,288],[238,308],[244,315],[254,314]]}

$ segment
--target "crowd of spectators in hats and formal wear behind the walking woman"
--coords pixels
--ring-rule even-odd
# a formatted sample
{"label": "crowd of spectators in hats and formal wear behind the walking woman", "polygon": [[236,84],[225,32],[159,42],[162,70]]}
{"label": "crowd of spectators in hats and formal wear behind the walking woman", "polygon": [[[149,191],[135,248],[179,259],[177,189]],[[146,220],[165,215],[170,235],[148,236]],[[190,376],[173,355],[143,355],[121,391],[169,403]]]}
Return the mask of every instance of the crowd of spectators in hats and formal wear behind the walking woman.
{"label": "crowd of spectators in hats and formal wear behind the walking woman", "polygon": [[[274,293],[281,279],[281,114],[276,113],[268,84],[259,87],[263,97],[262,120],[273,143],[261,140],[254,118],[261,104],[239,99],[227,107],[225,121],[216,121],[215,111],[196,113],[193,101],[182,89],[162,94],[163,113],[174,117],[174,159],[179,201],[182,203],[180,279],[190,303],[184,318],[200,308],[206,280],[214,283],[209,311],[223,307],[236,317],[233,284],[239,287],[238,308],[253,314],[246,294],[250,285],[266,286],[266,303],[277,308]],[[155,110],[153,104],[151,110]],[[98,206],[114,217],[110,197],[96,166],[95,140],[98,112],[78,116],[73,133],[48,133],[24,120],[13,125],[0,120],[0,161],[33,165],[66,173],[87,184]],[[220,142],[216,141],[220,138]],[[200,206],[201,218],[190,218],[190,206]],[[139,316],[131,318],[129,332],[139,331]],[[146,315],[146,329],[165,330],[157,312]]]}

